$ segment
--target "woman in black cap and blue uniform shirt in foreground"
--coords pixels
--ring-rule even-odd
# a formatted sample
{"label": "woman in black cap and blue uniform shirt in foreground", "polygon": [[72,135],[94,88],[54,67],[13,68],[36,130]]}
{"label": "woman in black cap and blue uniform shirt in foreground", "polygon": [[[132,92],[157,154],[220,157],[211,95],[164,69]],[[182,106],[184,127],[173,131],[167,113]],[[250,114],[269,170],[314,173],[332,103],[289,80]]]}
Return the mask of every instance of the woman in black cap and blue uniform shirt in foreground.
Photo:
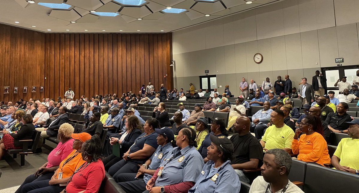
{"label": "woman in black cap and blue uniform shirt in foreground", "polygon": [[236,171],[230,165],[233,144],[227,137],[210,135],[208,162],[203,166],[196,184],[188,192],[239,192],[240,184]]}

